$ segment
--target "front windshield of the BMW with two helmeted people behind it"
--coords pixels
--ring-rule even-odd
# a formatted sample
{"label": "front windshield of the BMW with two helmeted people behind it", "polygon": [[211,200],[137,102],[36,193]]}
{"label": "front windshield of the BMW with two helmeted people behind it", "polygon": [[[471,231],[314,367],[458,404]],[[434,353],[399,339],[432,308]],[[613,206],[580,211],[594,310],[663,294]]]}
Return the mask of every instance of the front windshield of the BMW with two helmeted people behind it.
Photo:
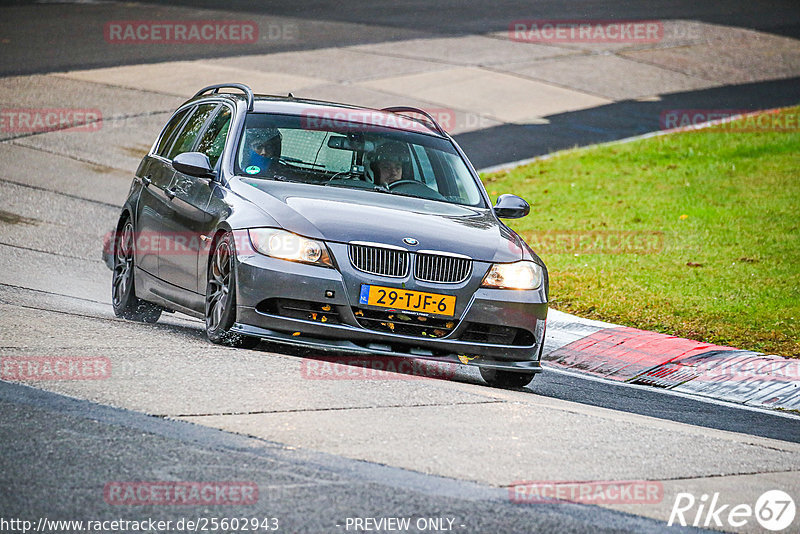
{"label": "front windshield of the BMW with two helmeted people behind it", "polygon": [[357,123],[312,128],[307,122],[249,114],[236,173],[485,207],[466,163],[446,139]]}

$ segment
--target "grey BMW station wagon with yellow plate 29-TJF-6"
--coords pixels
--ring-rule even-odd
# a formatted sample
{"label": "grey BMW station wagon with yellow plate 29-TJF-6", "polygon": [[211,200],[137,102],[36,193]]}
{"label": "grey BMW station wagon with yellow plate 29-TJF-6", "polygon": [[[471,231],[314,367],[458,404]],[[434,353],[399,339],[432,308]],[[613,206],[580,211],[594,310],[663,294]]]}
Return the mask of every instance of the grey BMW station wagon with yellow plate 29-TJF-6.
{"label": "grey BMW station wagon with yellow plate 29-TJF-6", "polygon": [[[233,91],[232,91],[233,90]],[[136,171],[112,246],[114,312],[205,320],[208,339],[422,358],[522,387],[548,278],[426,112],[206,87]]]}

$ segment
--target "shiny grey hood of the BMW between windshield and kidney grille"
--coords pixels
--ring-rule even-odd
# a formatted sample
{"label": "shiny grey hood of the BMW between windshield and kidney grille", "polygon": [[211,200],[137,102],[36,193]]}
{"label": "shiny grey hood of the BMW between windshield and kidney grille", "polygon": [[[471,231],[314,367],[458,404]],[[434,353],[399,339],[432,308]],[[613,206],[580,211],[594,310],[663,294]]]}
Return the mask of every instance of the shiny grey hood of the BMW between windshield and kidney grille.
{"label": "shiny grey hood of the BMW between windshield and kidney grille", "polygon": [[[231,186],[284,229],[314,239],[452,252],[487,262],[522,258],[519,237],[485,208],[250,178]],[[403,239],[407,237],[419,244],[405,244]]]}

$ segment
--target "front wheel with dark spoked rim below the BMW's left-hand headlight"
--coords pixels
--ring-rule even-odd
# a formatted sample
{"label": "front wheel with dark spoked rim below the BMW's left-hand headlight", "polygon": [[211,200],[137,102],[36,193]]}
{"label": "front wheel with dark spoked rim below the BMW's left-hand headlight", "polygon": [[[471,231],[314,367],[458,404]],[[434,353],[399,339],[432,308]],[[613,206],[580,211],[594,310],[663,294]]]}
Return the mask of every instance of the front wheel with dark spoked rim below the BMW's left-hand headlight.
{"label": "front wheel with dark spoked rim below the BMW's left-hand headlight", "polygon": [[261,341],[231,332],[236,322],[235,249],[231,234],[223,234],[214,245],[206,282],[206,336],[212,343],[252,349]]}

